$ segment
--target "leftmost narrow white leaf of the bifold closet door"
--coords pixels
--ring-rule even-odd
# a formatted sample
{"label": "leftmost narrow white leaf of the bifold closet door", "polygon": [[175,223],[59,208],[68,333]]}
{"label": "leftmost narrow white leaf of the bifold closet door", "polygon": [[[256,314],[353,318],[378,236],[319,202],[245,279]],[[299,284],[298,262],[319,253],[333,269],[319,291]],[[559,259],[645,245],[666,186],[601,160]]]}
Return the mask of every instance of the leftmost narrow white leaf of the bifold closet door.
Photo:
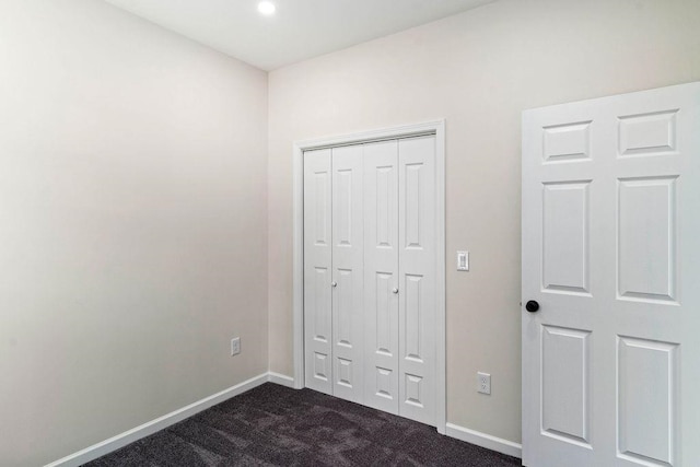
{"label": "leftmost narrow white leaf of the bifold closet door", "polygon": [[332,394],[330,150],[304,153],[305,385]]}

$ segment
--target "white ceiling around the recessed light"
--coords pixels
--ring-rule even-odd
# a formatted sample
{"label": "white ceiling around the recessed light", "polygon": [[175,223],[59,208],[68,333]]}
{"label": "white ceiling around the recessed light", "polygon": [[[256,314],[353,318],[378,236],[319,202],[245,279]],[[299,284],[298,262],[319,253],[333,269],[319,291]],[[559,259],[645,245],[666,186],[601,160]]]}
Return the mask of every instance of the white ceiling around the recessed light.
{"label": "white ceiling around the recessed light", "polygon": [[106,0],[264,70],[339,50],[493,0]]}

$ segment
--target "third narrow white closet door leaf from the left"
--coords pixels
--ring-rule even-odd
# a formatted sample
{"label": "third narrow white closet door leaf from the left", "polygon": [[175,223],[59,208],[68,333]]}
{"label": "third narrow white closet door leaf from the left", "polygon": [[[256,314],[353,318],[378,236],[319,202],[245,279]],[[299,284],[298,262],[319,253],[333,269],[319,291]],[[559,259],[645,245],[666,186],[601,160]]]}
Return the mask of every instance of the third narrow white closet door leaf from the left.
{"label": "third narrow white closet door leaf from the left", "polygon": [[398,413],[398,141],[364,145],[364,404]]}

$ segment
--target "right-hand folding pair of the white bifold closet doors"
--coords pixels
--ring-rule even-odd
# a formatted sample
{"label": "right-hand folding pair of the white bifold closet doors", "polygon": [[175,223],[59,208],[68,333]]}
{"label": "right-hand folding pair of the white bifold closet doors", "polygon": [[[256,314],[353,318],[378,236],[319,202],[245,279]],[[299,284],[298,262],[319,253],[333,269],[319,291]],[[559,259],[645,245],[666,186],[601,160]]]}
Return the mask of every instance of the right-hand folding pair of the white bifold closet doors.
{"label": "right-hand folding pair of the white bifold closet doors", "polygon": [[364,145],[364,404],[435,424],[435,138]]}

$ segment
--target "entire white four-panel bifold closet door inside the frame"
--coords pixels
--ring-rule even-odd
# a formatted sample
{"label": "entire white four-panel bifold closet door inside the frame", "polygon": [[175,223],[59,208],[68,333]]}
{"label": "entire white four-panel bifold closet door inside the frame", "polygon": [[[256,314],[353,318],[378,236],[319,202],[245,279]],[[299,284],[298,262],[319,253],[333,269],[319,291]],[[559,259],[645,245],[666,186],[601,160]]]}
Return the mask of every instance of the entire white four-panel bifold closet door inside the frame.
{"label": "entire white four-panel bifold closet door inside the frame", "polygon": [[304,153],[306,386],[435,423],[435,138]]}

